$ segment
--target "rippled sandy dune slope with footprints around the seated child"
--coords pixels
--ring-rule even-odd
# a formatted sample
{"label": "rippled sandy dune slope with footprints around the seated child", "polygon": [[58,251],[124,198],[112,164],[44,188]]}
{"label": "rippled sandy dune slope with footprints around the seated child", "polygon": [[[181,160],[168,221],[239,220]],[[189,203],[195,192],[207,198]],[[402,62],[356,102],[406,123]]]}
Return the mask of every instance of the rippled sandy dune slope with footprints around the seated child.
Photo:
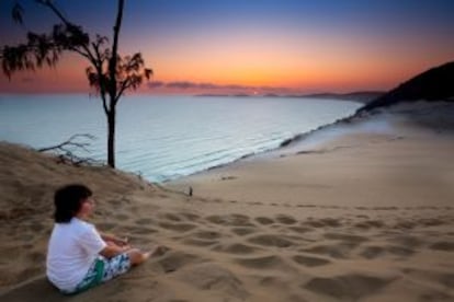
{"label": "rippled sandy dune slope with footprints around the seated child", "polygon": [[[453,116],[376,109],[160,186],[1,142],[0,300],[454,301]],[[63,297],[44,266],[67,183],[94,190],[100,230],[169,251]]]}

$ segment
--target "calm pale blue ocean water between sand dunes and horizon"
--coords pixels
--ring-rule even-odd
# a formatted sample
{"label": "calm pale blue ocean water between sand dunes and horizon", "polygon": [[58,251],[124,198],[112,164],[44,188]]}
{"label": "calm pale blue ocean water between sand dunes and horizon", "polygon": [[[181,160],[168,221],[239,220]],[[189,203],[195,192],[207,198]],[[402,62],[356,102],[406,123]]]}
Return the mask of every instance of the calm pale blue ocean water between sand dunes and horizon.
{"label": "calm pale blue ocean water between sand dunes and horizon", "polygon": [[[273,150],[353,114],[360,103],[296,97],[130,95],[117,105],[116,167],[166,182]],[[101,100],[87,94],[0,94],[0,140],[32,148],[76,133],[80,156],[106,161]]]}

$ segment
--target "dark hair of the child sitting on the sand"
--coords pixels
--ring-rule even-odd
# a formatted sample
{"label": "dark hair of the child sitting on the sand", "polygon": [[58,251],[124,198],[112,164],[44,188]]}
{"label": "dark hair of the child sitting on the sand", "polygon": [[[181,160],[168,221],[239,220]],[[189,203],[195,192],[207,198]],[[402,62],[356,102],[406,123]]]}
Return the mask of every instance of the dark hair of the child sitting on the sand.
{"label": "dark hair of the child sitting on the sand", "polygon": [[80,210],[82,200],[90,197],[92,191],[84,185],[67,185],[55,191],[55,222],[69,222]]}

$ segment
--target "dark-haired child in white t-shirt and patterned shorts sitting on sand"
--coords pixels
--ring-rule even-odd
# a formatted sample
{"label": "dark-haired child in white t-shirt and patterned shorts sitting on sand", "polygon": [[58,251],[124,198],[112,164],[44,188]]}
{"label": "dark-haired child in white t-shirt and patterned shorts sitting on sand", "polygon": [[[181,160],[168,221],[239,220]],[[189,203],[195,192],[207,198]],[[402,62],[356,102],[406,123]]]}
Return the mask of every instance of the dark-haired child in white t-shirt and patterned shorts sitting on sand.
{"label": "dark-haired child in white t-shirt and patterned shorts sitting on sand", "polygon": [[126,272],[151,253],[132,248],[126,240],[104,235],[84,220],[92,213],[91,190],[68,185],[54,196],[55,224],[52,231],[46,274],[63,293],[78,293]]}

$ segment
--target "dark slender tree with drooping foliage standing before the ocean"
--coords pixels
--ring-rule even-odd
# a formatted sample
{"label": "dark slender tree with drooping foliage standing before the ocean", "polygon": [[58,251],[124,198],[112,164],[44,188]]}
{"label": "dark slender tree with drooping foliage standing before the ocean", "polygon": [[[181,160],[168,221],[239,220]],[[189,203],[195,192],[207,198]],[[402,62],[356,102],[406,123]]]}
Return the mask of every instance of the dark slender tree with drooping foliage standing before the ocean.
{"label": "dark slender tree with drooping foliage standing before the ocean", "polygon": [[[136,90],[149,80],[152,71],[145,67],[140,53],[132,56],[118,55],[118,35],[122,27],[124,0],[117,2],[113,38],[102,35],[90,36],[82,26],[70,22],[55,5],[53,0],[35,0],[49,9],[59,20],[50,33],[29,32],[26,42],[15,46],[3,46],[0,60],[3,73],[11,80],[14,72],[36,70],[44,66],[54,67],[67,53],[76,53],[90,63],[86,69],[90,86],[97,90],[107,119],[107,164],[115,167],[115,116],[116,105],[127,90]],[[22,23],[23,9],[15,2],[12,9],[14,21]]]}

